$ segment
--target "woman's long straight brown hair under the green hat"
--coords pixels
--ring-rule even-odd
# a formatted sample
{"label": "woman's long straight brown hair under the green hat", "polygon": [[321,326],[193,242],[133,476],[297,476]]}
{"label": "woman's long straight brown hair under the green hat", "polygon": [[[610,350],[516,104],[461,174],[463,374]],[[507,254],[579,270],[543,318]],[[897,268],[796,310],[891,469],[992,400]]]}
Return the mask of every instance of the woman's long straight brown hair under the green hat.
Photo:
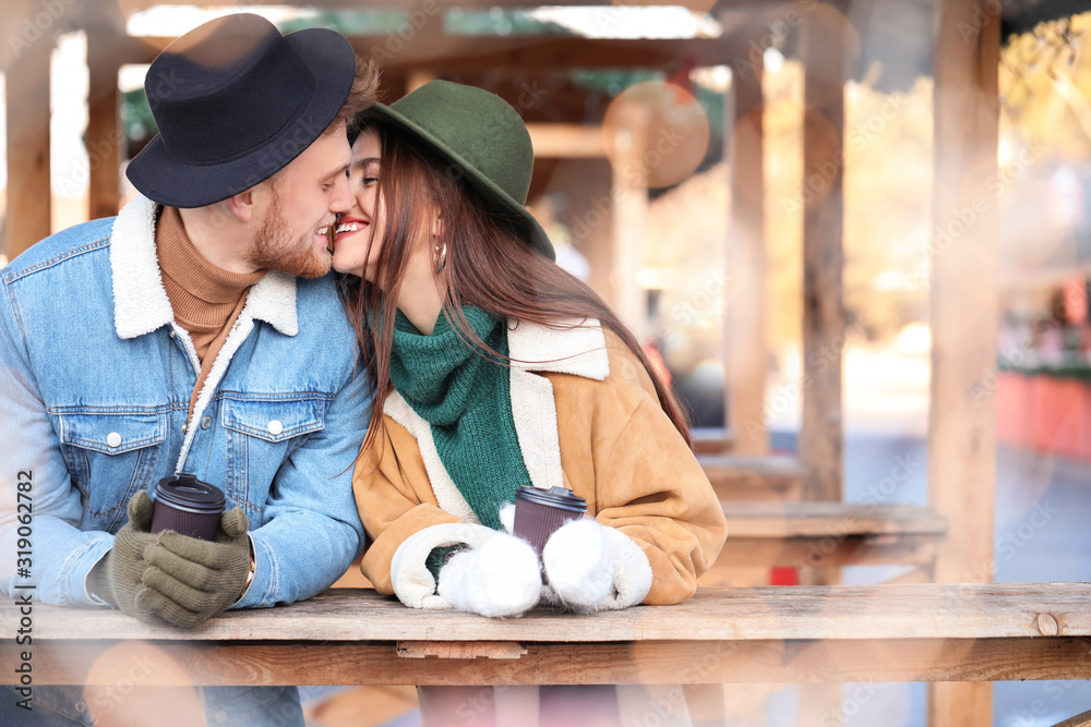
{"label": "woman's long straight brown hair under the green hat", "polygon": [[397,310],[381,301],[397,300],[413,245],[423,244],[419,239],[422,231],[430,230],[433,210],[439,210],[443,221],[443,238],[436,244],[446,244],[446,265],[440,274],[441,286],[445,283],[441,288],[443,310],[468,346],[483,355],[499,355],[470,329],[463,305],[475,305],[507,320],[554,328],[567,327],[565,322],[573,319],[598,318],[639,359],[663,411],[691,444],[688,423],[674,393],[656,374],[636,337],[587,283],[524,242],[517,220],[506,219],[487,205],[477,190],[461,179],[458,167],[419,148],[419,142],[381,122],[368,120],[357,134],[364,124],[376,131],[382,149],[375,214],[377,206],[385,203],[386,226],[382,240],[372,238],[369,243],[369,260],[371,246],[380,245],[372,268],[374,282],[350,276],[341,284],[364,365],[377,391],[361,451],[370,449],[382,432],[383,402],[391,386]]}

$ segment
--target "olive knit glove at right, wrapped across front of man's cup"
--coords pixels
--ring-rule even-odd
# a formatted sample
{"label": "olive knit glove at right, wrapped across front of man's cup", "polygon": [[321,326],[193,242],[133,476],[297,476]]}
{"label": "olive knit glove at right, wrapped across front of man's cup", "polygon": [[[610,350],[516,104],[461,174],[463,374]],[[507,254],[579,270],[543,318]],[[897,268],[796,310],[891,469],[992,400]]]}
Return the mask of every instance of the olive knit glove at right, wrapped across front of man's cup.
{"label": "olive knit glove at right, wrapped across front of man's cup", "polygon": [[193,628],[239,599],[250,572],[247,516],[225,512],[213,542],[164,531],[144,552],[144,590],[136,608],[169,623]]}

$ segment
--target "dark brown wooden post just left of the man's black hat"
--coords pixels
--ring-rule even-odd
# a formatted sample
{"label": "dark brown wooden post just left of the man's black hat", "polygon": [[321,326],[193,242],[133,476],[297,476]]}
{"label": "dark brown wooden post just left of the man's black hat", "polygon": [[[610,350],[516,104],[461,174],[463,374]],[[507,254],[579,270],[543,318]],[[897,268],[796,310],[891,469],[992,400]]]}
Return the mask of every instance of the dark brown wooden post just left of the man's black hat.
{"label": "dark brown wooden post just left of the man's black hat", "polygon": [[121,145],[124,132],[118,116],[120,92],[115,58],[116,36],[87,33],[87,162],[91,169],[88,214],[91,219],[118,214],[121,206]]}

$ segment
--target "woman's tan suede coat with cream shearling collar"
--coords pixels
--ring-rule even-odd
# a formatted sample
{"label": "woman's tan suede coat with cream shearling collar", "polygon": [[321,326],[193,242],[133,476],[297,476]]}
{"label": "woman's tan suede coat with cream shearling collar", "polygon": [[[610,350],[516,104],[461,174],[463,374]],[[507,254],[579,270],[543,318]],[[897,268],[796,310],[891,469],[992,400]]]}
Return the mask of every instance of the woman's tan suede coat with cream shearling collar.
{"label": "woman's tan suede coat with cream shearling collar", "polygon": [[[588,512],[648,557],[646,604],[685,601],[727,537],[719,501],[696,458],[659,405],[644,366],[596,320],[556,329],[509,325],[512,410],[531,483],[563,485]],[[369,546],[361,568],[392,594],[392,560],[410,535],[444,522],[477,522],[443,469],[427,422],[392,390],[385,434],[362,453],[353,480]]]}

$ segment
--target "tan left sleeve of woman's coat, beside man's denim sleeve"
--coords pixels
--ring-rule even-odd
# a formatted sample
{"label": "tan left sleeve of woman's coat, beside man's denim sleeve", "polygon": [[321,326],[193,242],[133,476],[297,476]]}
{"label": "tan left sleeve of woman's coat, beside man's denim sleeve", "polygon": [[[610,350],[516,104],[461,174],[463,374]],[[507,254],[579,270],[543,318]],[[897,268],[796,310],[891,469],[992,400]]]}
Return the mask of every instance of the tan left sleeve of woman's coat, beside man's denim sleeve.
{"label": "tan left sleeve of woman's coat, beside man's denim sleeve", "polygon": [[391,561],[410,535],[445,522],[461,522],[440,509],[429,486],[417,440],[389,417],[352,478],[357,508],[368,534],[360,569],[380,593],[391,595]]}

